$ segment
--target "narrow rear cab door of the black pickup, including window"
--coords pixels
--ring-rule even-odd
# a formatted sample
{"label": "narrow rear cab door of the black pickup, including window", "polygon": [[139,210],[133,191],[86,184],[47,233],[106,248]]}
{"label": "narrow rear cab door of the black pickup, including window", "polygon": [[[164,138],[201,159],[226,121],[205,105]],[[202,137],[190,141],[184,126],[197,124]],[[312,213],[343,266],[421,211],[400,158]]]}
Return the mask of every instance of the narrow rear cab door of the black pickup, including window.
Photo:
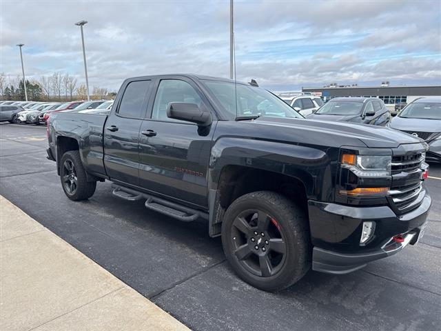
{"label": "narrow rear cab door of the black pickup, including window", "polygon": [[139,130],[146,116],[151,80],[125,83],[105,122],[104,165],[112,181],[139,185]]}

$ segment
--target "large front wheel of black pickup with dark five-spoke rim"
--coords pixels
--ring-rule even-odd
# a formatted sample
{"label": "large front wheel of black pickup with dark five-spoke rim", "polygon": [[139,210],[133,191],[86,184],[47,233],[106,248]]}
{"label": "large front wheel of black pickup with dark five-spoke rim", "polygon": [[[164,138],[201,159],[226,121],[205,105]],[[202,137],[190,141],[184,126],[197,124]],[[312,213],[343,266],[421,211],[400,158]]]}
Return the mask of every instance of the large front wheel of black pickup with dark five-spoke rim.
{"label": "large front wheel of black pickup with dark five-spoke rim", "polygon": [[239,197],[229,205],[222,223],[223,250],[234,271],[269,292],[289,287],[309,270],[309,237],[305,212],[271,191]]}

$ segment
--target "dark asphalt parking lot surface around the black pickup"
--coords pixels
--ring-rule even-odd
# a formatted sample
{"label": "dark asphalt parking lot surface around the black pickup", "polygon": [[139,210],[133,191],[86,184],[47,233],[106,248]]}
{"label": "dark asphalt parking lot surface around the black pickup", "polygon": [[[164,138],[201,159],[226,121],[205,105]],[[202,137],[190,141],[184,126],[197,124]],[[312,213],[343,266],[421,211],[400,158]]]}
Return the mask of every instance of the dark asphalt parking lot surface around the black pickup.
{"label": "dark asphalt parking lot surface around the black pickup", "polygon": [[0,144],[0,194],[189,328],[439,330],[440,165],[429,170],[433,205],[418,245],[351,274],[311,271],[273,294],[236,277],[203,221],[123,201],[107,181],[88,201],[70,201],[45,159],[45,128],[0,124]]}

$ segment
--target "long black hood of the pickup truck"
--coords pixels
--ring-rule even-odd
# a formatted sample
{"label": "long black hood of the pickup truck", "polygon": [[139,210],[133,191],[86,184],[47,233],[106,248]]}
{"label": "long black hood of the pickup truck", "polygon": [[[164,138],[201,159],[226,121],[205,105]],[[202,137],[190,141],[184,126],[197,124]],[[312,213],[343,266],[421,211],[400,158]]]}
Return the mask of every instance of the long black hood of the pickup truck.
{"label": "long black hood of the pickup truck", "polygon": [[298,141],[324,146],[363,146],[362,143],[369,148],[397,148],[401,144],[423,141],[404,132],[367,124],[286,117],[259,117],[253,122],[273,127],[271,135],[280,135],[280,140],[287,140],[289,132],[291,136],[300,135],[302,138],[299,137]]}

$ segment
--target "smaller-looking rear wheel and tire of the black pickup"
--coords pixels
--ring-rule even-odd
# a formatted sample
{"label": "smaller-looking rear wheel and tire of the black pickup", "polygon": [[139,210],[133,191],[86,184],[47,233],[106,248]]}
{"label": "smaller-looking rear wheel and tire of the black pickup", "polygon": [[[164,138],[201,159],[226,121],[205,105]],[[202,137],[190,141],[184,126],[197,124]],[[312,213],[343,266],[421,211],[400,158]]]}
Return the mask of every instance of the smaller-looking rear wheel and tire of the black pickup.
{"label": "smaller-looking rear wheel and tire of the black pickup", "polygon": [[96,181],[87,181],[78,150],[65,152],[61,157],[60,180],[64,193],[73,201],[89,199],[96,189]]}

